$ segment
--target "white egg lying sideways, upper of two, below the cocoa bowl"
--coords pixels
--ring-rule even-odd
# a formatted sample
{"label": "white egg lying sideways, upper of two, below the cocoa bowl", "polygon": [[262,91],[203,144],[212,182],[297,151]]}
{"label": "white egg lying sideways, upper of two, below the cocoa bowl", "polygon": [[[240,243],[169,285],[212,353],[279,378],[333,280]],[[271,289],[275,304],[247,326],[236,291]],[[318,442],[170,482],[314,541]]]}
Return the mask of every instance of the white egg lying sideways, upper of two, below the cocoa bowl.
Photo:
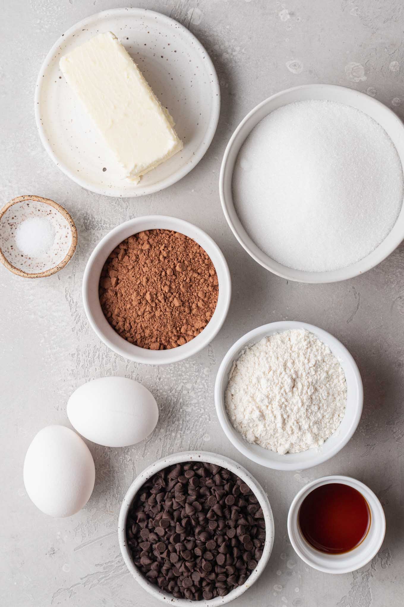
{"label": "white egg lying sideways, upper of two, below the cocoa bowl", "polygon": [[137,381],[101,378],[73,392],[67,416],[89,441],[105,447],[126,447],[153,432],[159,409],[154,396]]}

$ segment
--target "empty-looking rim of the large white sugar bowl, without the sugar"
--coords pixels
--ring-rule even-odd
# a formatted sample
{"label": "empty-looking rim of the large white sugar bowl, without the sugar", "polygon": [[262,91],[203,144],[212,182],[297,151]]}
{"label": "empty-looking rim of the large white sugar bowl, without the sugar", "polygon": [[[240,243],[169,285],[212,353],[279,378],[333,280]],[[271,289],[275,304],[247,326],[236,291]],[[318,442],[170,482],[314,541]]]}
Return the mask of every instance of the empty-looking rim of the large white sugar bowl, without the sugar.
{"label": "empty-looking rim of the large white sugar bowl, without the sugar", "polygon": [[294,101],[304,100],[326,100],[337,101],[365,112],[371,118],[376,120],[380,126],[385,129],[396,146],[402,166],[404,166],[404,126],[402,121],[392,112],[391,109],[365,93],[357,90],[347,89],[343,86],[333,84],[305,84],[293,89],[283,90],[251,110],[250,114],[242,120],[234,131],[224,153],[222,167],[220,169],[219,189],[222,208],[227,219],[228,225],[236,236],[240,245],[245,248],[248,254],[260,263],[264,268],[270,270],[278,276],[288,280],[297,280],[298,282],[324,283],[346,280],[363,274],[382,262],[404,238],[404,206],[397,218],[397,222],[385,240],[377,246],[372,253],[340,270],[326,272],[306,272],[293,270],[287,266],[276,262],[274,259],[263,253],[253,240],[248,236],[247,231],[239,220],[236,209],[233,204],[233,195],[231,192],[231,182],[233,180],[233,169],[240,148],[250,132],[253,130],[262,118],[278,107],[285,106]]}

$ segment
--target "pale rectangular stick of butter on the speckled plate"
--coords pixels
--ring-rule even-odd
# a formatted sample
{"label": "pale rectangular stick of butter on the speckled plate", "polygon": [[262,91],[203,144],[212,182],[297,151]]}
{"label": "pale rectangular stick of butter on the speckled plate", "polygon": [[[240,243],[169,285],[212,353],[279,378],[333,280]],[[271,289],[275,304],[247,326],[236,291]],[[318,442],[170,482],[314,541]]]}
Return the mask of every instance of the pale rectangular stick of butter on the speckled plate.
{"label": "pale rectangular stick of butter on the speckled plate", "polygon": [[128,179],[138,183],[182,149],[173,119],[113,33],[94,36],[59,67]]}

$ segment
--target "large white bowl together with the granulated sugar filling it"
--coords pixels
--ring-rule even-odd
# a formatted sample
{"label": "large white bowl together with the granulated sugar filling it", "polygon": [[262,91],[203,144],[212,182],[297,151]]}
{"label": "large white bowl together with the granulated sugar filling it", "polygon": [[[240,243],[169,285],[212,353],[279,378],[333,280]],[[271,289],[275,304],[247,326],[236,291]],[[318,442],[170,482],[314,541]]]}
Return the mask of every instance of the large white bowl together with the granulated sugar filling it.
{"label": "large white bowl together with the granulated sugar filling it", "polygon": [[239,124],[220,200],[245,250],[298,282],[352,278],[404,238],[404,126],[376,99],[328,84],[260,103]]}

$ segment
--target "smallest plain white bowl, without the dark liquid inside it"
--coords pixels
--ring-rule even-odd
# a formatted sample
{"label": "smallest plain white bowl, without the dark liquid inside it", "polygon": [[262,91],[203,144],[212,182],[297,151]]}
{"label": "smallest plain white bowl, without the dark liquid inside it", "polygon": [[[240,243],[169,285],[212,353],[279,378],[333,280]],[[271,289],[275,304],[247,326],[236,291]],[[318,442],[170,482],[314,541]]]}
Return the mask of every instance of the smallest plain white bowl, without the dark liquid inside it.
{"label": "smallest plain white bowl, without the dark liquid inside it", "polygon": [[[370,510],[371,522],[368,534],[357,548],[345,554],[324,554],[314,549],[306,542],[299,529],[298,515],[303,500],[313,489],[328,483],[342,483],[354,487],[362,493]],[[288,514],[288,534],[294,551],[307,565],[324,573],[349,573],[366,565],[379,552],[385,532],[386,519],[382,504],[369,487],[349,476],[323,476],[308,483],[297,493]]]}

